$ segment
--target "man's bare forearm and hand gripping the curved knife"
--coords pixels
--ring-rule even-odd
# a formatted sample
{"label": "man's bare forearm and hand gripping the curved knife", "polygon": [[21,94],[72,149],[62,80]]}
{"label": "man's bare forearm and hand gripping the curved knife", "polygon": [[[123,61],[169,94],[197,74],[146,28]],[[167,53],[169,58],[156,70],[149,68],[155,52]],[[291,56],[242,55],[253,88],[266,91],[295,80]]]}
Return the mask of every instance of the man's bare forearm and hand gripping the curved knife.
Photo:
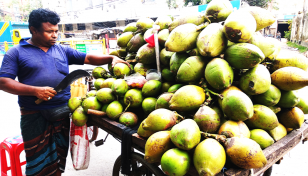
{"label": "man's bare forearm and hand gripping the curved knife", "polygon": [[4,77],[0,78],[0,90],[15,95],[36,96],[45,101],[47,101],[49,97],[52,98],[57,94],[52,87],[29,86],[11,78]]}

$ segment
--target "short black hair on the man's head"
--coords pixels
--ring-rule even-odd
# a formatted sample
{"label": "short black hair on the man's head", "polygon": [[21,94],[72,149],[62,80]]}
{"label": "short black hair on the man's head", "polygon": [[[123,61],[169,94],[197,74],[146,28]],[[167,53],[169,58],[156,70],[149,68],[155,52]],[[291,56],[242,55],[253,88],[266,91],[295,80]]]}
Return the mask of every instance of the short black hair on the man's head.
{"label": "short black hair on the man's head", "polygon": [[[60,22],[60,16],[49,9],[36,9],[33,10],[29,15],[29,30],[33,26],[37,30],[40,30],[42,23],[49,22],[56,25]],[[31,30],[30,33],[32,34]]]}

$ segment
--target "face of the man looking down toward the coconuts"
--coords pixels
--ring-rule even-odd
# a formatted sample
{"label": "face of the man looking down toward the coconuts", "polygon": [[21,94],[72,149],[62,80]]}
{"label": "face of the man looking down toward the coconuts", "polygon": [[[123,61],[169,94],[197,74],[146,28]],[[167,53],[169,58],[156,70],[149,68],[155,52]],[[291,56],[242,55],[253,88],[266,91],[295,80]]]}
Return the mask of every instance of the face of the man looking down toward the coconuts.
{"label": "face of the man looking down toward the coconuts", "polygon": [[32,37],[39,38],[42,46],[50,47],[54,45],[58,38],[58,25],[53,25],[49,22],[42,23],[39,30],[32,32]]}

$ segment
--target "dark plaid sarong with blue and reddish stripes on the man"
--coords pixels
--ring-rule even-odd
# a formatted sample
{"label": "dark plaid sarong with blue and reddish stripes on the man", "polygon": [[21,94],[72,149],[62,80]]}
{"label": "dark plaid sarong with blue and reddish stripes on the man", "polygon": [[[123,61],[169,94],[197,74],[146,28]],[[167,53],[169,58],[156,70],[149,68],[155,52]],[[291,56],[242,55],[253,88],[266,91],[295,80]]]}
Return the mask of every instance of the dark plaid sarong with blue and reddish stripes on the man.
{"label": "dark plaid sarong with blue and reddish stripes on the man", "polygon": [[26,153],[26,175],[48,176],[65,170],[70,119],[47,121],[41,113],[21,115]]}

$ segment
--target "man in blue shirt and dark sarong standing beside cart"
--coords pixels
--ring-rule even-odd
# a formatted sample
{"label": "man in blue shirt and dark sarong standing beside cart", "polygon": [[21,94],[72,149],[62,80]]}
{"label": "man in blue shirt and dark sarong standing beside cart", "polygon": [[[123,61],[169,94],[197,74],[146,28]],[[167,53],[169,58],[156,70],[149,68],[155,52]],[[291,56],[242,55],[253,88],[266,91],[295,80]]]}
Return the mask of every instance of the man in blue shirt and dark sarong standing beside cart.
{"label": "man in blue shirt and dark sarong standing beside cart", "polygon": [[[52,87],[69,73],[68,65],[128,64],[115,56],[84,54],[56,44],[59,21],[55,12],[33,10],[29,15],[32,37],[11,48],[0,69],[0,90],[18,95],[26,175],[58,176],[65,170],[70,120],[66,117],[49,121],[42,112],[67,107],[70,88],[57,93]],[[44,102],[35,104],[38,98]]]}

